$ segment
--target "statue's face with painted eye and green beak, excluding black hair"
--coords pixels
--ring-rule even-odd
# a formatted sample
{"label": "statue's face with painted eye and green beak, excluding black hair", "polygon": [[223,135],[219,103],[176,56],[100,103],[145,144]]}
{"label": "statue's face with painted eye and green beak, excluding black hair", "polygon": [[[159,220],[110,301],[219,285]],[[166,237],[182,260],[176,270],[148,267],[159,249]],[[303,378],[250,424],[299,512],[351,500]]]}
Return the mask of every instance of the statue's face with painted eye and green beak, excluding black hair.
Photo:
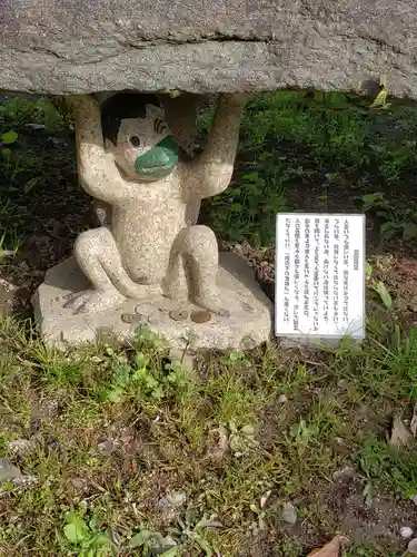
{"label": "statue's face with painted eye and green beak, excluding black hair", "polygon": [[115,162],[132,180],[153,182],[168,176],[178,163],[178,146],[163,110],[146,106],[146,118],[121,120],[117,145],[107,144]]}

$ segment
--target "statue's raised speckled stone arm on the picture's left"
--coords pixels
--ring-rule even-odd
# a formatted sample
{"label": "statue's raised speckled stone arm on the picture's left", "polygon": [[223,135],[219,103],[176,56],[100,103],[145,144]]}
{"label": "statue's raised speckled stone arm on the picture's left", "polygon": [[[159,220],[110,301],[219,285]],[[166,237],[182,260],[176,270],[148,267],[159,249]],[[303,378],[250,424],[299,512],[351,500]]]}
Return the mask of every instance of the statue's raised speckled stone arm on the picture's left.
{"label": "statue's raised speckled stone arm on the picture's left", "polygon": [[69,97],[76,123],[78,174],[82,187],[92,197],[113,204],[128,193],[113,155],[106,153],[101,130],[100,105],[91,95]]}

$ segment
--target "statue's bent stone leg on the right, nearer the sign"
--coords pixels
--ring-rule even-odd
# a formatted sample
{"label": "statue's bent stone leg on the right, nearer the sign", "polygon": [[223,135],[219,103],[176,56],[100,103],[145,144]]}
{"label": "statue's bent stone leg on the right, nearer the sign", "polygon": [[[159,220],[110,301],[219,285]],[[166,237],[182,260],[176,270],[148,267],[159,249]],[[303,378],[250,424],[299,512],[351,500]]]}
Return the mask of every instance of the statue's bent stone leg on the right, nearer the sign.
{"label": "statue's bent stone leg on the right, nearer the sign", "polygon": [[228,315],[217,286],[219,250],[215,233],[201,225],[183,228],[175,241],[173,255],[177,262],[182,262],[193,302],[219,315]]}

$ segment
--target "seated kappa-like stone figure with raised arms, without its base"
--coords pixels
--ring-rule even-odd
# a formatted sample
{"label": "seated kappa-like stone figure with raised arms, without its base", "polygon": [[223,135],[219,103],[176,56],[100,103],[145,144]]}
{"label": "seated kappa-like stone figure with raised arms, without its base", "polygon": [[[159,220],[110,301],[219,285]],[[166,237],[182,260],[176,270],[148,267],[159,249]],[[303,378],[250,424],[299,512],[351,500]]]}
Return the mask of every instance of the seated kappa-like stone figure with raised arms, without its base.
{"label": "seated kappa-like stone figure with raised arms, without its base", "polygon": [[206,149],[181,160],[157,96],[120,92],[101,107],[90,95],[70,97],[80,182],[110,206],[110,223],[77,238],[91,287],[67,306],[92,313],[162,295],[228,315],[216,236],[196,224],[196,205],[230,183],[245,102],[244,94],[220,95]]}

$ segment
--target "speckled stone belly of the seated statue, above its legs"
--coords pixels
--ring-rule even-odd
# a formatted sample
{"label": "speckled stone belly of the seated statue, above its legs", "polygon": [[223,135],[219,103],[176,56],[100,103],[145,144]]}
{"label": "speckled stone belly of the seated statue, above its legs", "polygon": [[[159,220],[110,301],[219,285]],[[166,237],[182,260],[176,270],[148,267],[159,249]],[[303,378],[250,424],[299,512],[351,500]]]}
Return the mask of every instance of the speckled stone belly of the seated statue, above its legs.
{"label": "speckled stone belly of the seated statue, above its legs", "polygon": [[133,281],[157,284],[166,276],[172,243],[186,226],[185,208],[178,206],[177,209],[165,213],[137,209],[113,215],[116,244]]}

